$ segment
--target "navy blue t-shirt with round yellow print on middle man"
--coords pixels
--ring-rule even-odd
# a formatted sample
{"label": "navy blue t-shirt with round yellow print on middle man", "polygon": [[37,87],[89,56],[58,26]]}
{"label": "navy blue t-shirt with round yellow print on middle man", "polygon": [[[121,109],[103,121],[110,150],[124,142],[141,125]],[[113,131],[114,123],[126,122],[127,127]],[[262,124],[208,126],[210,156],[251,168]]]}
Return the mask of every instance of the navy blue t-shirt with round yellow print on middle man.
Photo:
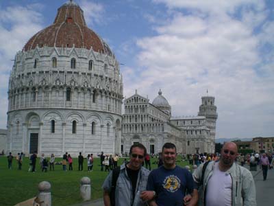
{"label": "navy blue t-shirt with round yellow print on middle man", "polygon": [[177,165],[173,170],[161,166],[151,171],[147,180],[147,190],[156,192],[158,206],[182,206],[186,190],[192,193],[193,185],[192,174]]}

